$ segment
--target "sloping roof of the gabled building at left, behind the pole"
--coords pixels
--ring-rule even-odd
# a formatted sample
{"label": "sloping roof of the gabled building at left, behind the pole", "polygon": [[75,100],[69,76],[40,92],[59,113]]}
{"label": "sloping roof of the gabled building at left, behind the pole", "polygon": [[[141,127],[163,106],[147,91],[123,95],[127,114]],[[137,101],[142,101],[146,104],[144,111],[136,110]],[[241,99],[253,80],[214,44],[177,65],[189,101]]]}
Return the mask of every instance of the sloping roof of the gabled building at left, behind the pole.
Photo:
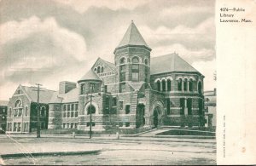
{"label": "sloping roof of the gabled building at left, behind the pole", "polygon": [[[37,87],[28,87],[20,85],[20,89],[24,91],[24,93],[32,100],[32,102],[38,101],[38,91]],[[54,90],[49,89],[41,89],[39,92],[39,103],[49,103],[52,95],[55,93]]]}

